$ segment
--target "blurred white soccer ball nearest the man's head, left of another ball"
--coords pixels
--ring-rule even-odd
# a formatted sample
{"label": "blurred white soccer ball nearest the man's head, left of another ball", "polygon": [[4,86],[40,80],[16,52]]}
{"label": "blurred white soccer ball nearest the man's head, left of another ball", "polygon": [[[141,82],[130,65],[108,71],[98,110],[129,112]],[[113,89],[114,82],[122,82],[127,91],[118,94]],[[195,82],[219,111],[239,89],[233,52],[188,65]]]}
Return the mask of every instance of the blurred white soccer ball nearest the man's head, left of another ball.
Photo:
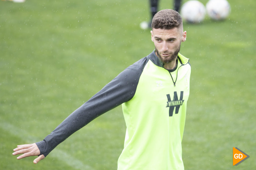
{"label": "blurred white soccer ball nearest the man's head, left of another ball", "polygon": [[201,2],[190,0],[182,5],[180,13],[183,20],[190,23],[199,23],[204,20],[206,9]]}

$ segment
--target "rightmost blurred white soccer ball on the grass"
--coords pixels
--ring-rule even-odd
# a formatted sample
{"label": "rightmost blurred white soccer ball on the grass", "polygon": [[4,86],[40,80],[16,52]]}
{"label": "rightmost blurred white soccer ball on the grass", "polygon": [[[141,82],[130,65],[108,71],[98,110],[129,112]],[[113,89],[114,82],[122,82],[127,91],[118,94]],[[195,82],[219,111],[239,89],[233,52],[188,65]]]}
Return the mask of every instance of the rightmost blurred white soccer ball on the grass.
{"label": "rightmost blurred white soccer ball on the grass", "polygon": [[230,13],[230,5],[227,0],[210,0],[206,4],[207,14],[211,19],[226,19]]}

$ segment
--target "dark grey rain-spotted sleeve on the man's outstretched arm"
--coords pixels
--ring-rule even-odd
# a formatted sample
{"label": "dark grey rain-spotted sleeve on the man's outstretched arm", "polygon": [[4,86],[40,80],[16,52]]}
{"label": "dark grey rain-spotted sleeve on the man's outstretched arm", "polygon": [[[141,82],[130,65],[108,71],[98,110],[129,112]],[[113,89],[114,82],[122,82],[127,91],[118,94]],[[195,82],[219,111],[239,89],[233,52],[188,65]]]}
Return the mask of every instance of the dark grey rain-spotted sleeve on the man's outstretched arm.
{"label": "dark grey rain-spotted sleeve on the man's outstretched arm", "polygon": [[47,156],[58,144],[96,117],[129,101],[135,94],[146,57],[126,68],[86,103],[71,113],[44,140],[37,142],[40,155]]}

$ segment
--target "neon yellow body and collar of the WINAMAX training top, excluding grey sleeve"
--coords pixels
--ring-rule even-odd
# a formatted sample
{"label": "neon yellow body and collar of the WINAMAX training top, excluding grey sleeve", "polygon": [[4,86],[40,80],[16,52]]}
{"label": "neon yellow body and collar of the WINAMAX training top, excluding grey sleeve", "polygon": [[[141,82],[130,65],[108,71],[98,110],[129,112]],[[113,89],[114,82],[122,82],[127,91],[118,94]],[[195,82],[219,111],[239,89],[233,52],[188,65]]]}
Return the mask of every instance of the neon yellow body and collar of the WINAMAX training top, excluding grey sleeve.
{"label": "neon yellow body and collar of the WINAMAX training top, excluding grey sleeve", "polygon": [[118,170],[184,169],[181,142],[189,96],[189,59],[179,54],[176,69],[169,72],[152,58],[155,53],[147,56],[133,98],[122,104],[127,130]]}

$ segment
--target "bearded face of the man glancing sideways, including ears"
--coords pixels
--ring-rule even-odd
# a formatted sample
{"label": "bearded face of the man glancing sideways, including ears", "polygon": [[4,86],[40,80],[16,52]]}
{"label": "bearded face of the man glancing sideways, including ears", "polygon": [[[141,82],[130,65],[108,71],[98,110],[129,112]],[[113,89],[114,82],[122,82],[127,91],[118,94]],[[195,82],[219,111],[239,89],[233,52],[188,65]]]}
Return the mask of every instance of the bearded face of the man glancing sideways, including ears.
{"label": "bearded face of the man glancing sideways, including ears", "polygon": [[164,63],[176,60],[181,42],[186,41],[186,31],[183,28],[155,29],[151,31],[151,38],[155,44],[156,54]]}

